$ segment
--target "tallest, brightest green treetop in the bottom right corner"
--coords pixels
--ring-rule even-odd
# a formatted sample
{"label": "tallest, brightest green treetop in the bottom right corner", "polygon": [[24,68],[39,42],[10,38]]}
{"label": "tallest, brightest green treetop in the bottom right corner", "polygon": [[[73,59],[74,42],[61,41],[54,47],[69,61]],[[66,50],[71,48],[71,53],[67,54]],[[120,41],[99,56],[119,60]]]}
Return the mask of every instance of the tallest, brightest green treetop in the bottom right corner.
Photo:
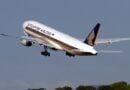
{"label": "tallest, brightest green treetop in the bottom right corner", "polygon": [[122,82],[116,82],[111,85],[112,90],[127,90],[127,83],[122,81]]}

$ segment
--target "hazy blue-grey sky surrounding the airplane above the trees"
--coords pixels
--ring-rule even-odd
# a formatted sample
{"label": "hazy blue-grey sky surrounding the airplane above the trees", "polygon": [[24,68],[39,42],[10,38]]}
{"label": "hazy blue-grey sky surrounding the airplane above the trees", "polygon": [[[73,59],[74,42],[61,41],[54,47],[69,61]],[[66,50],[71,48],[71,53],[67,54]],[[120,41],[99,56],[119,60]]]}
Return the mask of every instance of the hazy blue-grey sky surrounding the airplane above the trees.
{"label": "hazy blue-grey sky surrounding the airplane above the trees", "polygon": [[[101,23],[99,38],[130,37],[130,0],[0,0],[0,33],[23,36],[24,21],[36,20],[76,38],[85,38]],[[0,90],[69,85],[130,83],[130,41],[98,45],[96,50],[123,53],[70,58],[64,52],[25,47],[20,39],[0,36]]]}

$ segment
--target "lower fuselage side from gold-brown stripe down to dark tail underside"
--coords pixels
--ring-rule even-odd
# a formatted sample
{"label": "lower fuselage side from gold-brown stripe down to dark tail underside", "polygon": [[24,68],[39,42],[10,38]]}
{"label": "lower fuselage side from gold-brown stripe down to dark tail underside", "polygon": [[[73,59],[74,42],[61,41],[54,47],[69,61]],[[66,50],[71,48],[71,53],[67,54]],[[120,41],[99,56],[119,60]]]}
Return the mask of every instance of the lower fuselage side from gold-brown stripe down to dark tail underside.
{"label": "lower fuselage side from gold-brown stripe down to dark tail underside", "polygon": [[[68,44],[66,44],[66,43],[64,43],[62,41],[59,41],[59,40],[57,40],[55,38],[52,38],[50,36],[47,36],[47,35],[45,35],[45,34],[43,34],[41,32],[38,32],[38,31],[36,31],[36,30],[34,30],[34,29],[30,28],[30,27],[26,27],[25,32],[27,32],[31,36],[37,37],[37,38],[39,38],[39,39],[41,39],[41,40],[43,40],[43,41],[45,41],[45,42],[47,42],[47,43],[49,43],[51,45],[53,45],[51,42],[54,42],[54,43],[60,45],[65,51],[67,51],[67,52],[69,52],[71,54],[74,54],[74,55],[91,55],[88,52],[80,52],[80,51],[78,51],[77,48],[75,48],[73,46],[70,46],[70,45],[68,45]],[[77,50],[77,51],[74,51],[74,50]]]}

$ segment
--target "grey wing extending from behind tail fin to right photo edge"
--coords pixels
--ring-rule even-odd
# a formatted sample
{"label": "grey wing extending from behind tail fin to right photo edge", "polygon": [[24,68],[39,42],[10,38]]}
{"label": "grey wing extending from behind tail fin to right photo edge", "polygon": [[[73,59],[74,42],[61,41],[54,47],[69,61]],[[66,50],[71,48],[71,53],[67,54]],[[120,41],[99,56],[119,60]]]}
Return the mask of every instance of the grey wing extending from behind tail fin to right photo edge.
{"label": "grey wing extending from behind tail fin to right photo edge", "polygon": [[128,41],[130,38],[113,38],[113,39],[97,39],[96,45],[98,44],[111,44],[115,42]]}

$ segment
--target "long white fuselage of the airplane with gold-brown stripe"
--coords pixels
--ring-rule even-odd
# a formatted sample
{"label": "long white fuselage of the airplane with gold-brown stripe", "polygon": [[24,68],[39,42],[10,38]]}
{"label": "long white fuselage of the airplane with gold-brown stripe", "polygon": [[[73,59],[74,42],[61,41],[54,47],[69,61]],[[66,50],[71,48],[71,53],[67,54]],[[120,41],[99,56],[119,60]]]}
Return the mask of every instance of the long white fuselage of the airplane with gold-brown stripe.
{"label": "long white fuselage of the airplane with gold-brown stripe", "polygon": [[81,55],[82,53],[97,54],[92,46],[39,22],[26,21],[23,24],[23,29],[27,35],[39,38],[57,49],[65,50],[74,55]]}

